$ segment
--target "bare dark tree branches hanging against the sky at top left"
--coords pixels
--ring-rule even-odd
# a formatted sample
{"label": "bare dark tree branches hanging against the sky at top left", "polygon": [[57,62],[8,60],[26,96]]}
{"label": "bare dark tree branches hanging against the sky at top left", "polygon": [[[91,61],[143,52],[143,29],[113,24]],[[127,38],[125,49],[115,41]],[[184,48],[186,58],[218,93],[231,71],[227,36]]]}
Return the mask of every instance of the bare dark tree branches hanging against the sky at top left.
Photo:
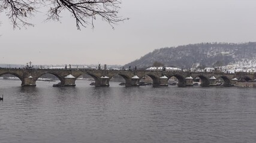
{"label": "bare dark tree branches hanging against the sky at top left", "polygon": [[37,7],[48,8],[46,20],[59,21],[62,11],[68,10],[76,20],[77,29],[80,30],[80,26],[86,27],[88,24],[94,27],[94,20],[97,17],[101,17],[112,27],[113,24],[128,19],[118,16],[119,5],[119,0],[0,0],[0,13],[5,11],[13,27],[20,28],[20,25],[34,26],[27,20],[38,12]]}

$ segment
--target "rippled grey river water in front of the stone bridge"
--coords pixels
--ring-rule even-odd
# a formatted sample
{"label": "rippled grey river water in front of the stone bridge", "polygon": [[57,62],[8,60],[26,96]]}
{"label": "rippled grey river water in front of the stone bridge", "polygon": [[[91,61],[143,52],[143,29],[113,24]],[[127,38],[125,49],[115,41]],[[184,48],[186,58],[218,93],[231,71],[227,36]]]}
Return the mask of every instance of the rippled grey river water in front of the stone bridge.
{"label": "rippled grey river water in front of the stone bridge", "polygon": [[0,142],[256,142],[256,88],[89,83],[0,80]]}

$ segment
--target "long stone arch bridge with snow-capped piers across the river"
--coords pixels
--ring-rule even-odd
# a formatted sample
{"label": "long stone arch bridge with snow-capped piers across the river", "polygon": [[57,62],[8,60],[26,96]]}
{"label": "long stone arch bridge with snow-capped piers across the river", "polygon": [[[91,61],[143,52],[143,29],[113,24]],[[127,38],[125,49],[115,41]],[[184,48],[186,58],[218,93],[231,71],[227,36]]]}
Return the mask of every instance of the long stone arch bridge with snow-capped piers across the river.
{"label": "long stone arch bridge with snow-capped piers across the river", "polygon": [[110,79],[120,75],[125,79],[125,86],[139,86],[140,79],[149,76],[153,86],[168,86],[168,79],[176,77],[179,87],[192,86],[196,77],[201,79],[201,86],[216,85],[222,79],[224,86],[231,86],[238,81],[254,80],[256,73],[223,73],[191,71],[151,71],[151,70],[88,70],[88,69],[0,69],[0,76],[13,74],[22,81],[22,86],[36,86],[36,81],[43,74],[53,74],[61,80],[61,86],[76,86],[76,79],[82,74],[89,74],[95,80],[95,86],[109,86]]}

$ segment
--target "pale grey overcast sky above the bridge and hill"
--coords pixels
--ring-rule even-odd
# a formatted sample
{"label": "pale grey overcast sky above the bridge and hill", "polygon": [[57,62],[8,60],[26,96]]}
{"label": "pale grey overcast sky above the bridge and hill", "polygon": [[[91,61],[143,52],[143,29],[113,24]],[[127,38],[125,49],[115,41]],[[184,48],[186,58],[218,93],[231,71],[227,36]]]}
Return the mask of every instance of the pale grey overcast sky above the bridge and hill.
{"label": "pale grey overcast sky above the bridge and hill", "polygon": [[0,64],[127,64],[154,49],[201,42],[255,42],[255,0],[122,0],[130,19],[115,30],[100,18],[77,30],[69,14],[61,23],[14,29],[0,13]]}

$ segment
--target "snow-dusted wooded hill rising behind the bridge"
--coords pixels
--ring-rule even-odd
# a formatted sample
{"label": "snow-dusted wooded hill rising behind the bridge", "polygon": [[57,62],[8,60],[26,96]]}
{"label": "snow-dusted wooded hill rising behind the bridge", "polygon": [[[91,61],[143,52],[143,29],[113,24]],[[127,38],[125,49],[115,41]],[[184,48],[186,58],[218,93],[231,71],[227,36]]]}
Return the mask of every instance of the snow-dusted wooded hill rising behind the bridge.
{"label": "snow-dusted wooded hill rising behind the bridge", "polygon": [[256,66],[256,42],[197,43],[160,48],[126,64],[125,67],[146,68],[152,66],[155,61],[164,66],[183,69],[198,66],[212,67],[216,63]]}

